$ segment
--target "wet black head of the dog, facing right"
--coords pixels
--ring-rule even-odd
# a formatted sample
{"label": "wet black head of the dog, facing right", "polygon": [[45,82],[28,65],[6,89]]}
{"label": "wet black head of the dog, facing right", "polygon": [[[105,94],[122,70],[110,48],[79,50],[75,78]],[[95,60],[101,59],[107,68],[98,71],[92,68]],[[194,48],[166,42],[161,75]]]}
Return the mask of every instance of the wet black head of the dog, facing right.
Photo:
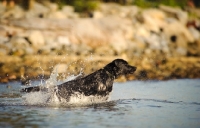
{"label": "wet black head of the dog, facing right", "polygon": [[121,75],[132,74],[136,71],[136,67],[129,65],[123,59],[116,59],[107,65],[115,77],[119,77]]}

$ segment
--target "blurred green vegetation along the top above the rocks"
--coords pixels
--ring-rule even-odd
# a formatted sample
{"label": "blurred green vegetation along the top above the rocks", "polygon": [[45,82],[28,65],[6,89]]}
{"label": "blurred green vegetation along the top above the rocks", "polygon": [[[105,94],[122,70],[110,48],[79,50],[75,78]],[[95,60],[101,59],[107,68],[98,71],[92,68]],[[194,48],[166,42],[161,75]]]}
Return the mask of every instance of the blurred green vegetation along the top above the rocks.
{"label": "blurred green vegetation along the top above the rocks", "polygon": [[[10,0],[0,0],[10,2]],[[30,9],[34,2],[42,2],[41,0],[19,0],[15,1],[16,4],[22,5],[24,9]],[[139,7],[157,7],[160,4],[168,5],[172,7],[185,7],[188,2],[194,4],[196,7],[200,7],[200,0],[46,0],[57,3],[60,8],[64,5],[74,6],[76,12],[90,12],[96,10],[99,7],[100,2],[115,2],[123,5],[137,5]]]}

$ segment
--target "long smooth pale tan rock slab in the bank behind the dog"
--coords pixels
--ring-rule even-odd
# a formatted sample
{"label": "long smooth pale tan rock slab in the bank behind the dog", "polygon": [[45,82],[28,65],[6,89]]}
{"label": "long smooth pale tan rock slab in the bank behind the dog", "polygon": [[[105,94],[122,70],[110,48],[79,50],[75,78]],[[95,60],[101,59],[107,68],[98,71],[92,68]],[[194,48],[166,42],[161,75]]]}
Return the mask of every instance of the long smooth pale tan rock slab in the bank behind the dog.
{"label": "long smooth pale tan rock slab in the bank behind the dog", "polygon": [[[63,43],[64,40],[64,43],[67,45],[69,42],[72,42],[74,44],[85,44],[94,49],[112,43],[111,45],[114,44],[113,46],[115,50],[120,52],[120,49],[122,49],[122,51],[126,49],[126,40],[133,37],[131,20],[121,19],[118,17],[66,20],[30,18],[26,20],[13,21],[11,24],[23,27],[24,29],[40,29],[41,31],[51,30],[48,32],[49,34],[45,35],[36,30],[31,30],[29,32],[29,41],[33,46],[40,47],[45,44],[44,38],[48,39],[54,37],[55,39],[57,38],[56,40],[58,42]],[[55,35],[53,31],[60,33],[58,35],[62,35],[63,37],[66,36],[69,39],[69,42],[68,39]]]}

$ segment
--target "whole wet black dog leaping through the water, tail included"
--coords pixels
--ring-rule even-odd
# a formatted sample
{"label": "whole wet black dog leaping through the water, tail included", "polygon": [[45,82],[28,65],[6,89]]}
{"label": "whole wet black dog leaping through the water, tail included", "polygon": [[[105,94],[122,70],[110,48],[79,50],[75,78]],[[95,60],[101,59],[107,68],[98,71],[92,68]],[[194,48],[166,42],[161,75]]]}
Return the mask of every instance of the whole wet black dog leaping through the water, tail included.
{"label": "whole wet black dog leaping through the water, tail included", "polygon": [[[136,67],[131,66],[123,59],[115,59],[104,68],[82,78],[77,78],[56,86],[56,95],[59,100],[69,101],[70,96],[80,93],[85,96],[106,97],[112,91],[116,78],[122,75],[132,74]],[[41,91],[40,86],[24,88],[22,92]]]}

